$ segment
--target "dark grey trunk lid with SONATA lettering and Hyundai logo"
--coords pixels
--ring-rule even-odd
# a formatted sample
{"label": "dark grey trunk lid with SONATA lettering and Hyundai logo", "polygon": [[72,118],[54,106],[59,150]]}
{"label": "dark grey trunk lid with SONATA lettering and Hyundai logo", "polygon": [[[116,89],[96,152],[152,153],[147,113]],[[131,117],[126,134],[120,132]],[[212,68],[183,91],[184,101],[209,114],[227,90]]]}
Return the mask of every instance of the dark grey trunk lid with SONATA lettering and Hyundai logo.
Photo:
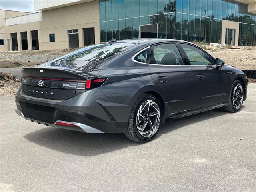
{"label": "dark grey trunk lid with SONATA lettering and Hyundai logo", "polygon": [[48,68],[22,69],[22,92],[28,96],[51,100],[74,97],[85,90],[86,78],[75,72]]}

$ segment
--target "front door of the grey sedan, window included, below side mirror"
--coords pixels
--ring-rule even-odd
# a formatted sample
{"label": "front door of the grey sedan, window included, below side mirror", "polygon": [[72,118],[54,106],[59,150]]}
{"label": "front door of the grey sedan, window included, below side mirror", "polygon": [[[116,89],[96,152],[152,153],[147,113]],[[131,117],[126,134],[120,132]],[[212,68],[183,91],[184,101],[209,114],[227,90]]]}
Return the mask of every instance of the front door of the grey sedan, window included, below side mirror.
{"label": "front door of the grey sedan, window included, below side mirror", "polygon": [[196,100],[193,108],[204,108],[228,101],[228,78],[223,67],[198,47],[180,43],[196,80]]}

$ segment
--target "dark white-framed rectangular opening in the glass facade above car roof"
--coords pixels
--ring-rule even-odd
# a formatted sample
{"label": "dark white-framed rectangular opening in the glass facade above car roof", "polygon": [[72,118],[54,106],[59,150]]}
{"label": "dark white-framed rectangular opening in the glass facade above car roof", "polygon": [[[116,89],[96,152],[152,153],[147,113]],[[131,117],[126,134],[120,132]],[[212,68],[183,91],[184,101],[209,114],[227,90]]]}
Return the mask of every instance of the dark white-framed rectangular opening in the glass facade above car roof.
{"label": "dark white-framed rectangular opening in the glass facade above car roof", "polygon": [[158,38],[157,24],[140,25],[140,38]]}

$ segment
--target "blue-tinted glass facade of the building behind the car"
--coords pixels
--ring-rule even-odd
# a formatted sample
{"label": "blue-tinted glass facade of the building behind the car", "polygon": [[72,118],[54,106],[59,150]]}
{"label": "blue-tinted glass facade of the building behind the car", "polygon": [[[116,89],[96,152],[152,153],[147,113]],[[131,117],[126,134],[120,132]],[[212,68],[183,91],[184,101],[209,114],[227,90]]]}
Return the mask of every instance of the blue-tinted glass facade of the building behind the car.
{"label": "blue-tinted glass facade of the building behind the car", "polygon": [[256,14],[237,0],[100,0],[100,41],[108,38],[256,46]]}

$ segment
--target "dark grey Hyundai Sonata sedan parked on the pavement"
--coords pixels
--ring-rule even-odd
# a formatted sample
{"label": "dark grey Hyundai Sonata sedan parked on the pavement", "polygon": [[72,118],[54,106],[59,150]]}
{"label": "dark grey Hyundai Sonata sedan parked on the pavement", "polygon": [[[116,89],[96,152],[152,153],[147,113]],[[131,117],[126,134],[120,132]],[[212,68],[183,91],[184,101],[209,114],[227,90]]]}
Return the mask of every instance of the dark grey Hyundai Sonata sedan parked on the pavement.
{"label": "dark grey Hyundai Sonata sedan parked on the pavement", "polygon": [[147,142],[176,118],[238,112],[246,95],[244,72],[195,44],[110,39],[22,69],[16,112],[46,126]]}

